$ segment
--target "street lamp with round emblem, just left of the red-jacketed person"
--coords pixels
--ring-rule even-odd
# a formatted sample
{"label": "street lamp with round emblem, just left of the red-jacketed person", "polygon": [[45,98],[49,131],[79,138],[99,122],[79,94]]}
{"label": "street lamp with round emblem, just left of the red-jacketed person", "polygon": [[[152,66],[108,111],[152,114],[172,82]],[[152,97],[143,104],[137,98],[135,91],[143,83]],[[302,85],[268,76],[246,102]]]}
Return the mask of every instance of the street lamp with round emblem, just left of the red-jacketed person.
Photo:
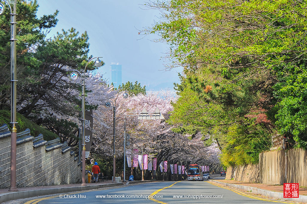
{"label": "street lamp with round emblem, just left of the red-jacketed person", "polygon": [[72,80],[76,80],[78,78],[78,74],[80,74],[81,82],[82,82],[81,84],[82,85],[82,93],[81,93],[81,96],[82,96],[82,119],[81,119],[82,120],[82,144],[81,145],[83,145],[83,147],[82,147],[82,184],[81,186],[86,186],[86,183],[85,183],[85,135],[84,135],[84,130],[85,130],[85,70],[86,70],[88,63],[93,59],[96,59],[94,62],[96,67],[102,66],[103,62],[101,62],[99,58],[102,58],[102,57],[93,57],[90,60],[88,60],[88,62],[85,65],[83,74],[81,74],[81,72],[78,70],[69,70],[69,71],[75,71],[70,74],[70,78]]}

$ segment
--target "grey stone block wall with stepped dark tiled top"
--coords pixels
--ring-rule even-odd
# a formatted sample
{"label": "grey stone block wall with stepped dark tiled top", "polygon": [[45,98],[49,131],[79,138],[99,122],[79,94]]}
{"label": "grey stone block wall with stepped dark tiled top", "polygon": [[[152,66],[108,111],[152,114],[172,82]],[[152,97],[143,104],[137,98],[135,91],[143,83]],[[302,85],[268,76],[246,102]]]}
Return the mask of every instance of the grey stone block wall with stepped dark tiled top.
{"label": "grey stone block wall with stepped dark tiled top", "polygon": [[[10,131],[0,127],[0,188],[10,186]],[[57,138],[34,138],[29,129],[17,133],[16,186],[45,186],[81,182],[81,165],[67,144]]]}

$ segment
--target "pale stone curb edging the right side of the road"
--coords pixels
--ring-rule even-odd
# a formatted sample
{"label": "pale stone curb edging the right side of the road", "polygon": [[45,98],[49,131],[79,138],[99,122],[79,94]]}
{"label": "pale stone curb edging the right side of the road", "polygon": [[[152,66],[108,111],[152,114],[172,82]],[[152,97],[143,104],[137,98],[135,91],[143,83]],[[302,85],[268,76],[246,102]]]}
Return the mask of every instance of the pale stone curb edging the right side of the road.
{"label": "pale stone curb edging the right side of the road", "polygon": [[288,201],[296,201],[296,202],[307,202],[307,196],[306,195],[299,195],[299,198],[284,198],[284,194],[279,193],[279,192],[267,191],[267,190],[263,190],[261,188],[254,188],[254,187],[250,187],[250,186],[242,186],[242,185],[237,185],[237,184],[224,183],[224,182],[216,181],[216,180],[210,180],[210,181],[215,182],[215,183],[219,183],[219,184],[222,184],[222,185],[225,185],[225,186],[229,186],[229,187],[234,187],[234,188],[239,188],[239,189],[246,190],[246,191],[251,191],[252,193],[265,195],[265,196],[268,196],[268,197],[271,197],[271,198],[277,198],[277,199],[288,200]]}

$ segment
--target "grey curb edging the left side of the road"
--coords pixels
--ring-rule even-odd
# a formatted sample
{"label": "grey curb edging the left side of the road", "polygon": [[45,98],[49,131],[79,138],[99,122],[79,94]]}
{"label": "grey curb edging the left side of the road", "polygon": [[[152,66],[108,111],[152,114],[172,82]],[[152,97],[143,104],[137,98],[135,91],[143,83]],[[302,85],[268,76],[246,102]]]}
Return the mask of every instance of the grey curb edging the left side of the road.
{"label": "grey curb edging the left side of the road", "polygon": [[[153,182],[155,180],[146,180],[146,181],[130,181],[127,182],[126,185],[130,183],[138,184],[138,183],[148,183]],[[10,192],[6,194],[0,195],[0,203],[7,202],[10,200],[17,200],[21,198],[31,198],[35,196],[41,195],[52,195],[58,193],[69,193],[75,191],[87,191],[92,189],[98,188],[105,188],[105,187],[115,187],[115,186],[123,186],[123,183],[108,183],[108,184],[101,184],[101,185],[94,185],[94,186],[77,186],[77,187],[63,187],[63,188],[49,188],[49,189],[39,189],[39,190],[31,190],[31,191],[17,191],[17,192]]]}

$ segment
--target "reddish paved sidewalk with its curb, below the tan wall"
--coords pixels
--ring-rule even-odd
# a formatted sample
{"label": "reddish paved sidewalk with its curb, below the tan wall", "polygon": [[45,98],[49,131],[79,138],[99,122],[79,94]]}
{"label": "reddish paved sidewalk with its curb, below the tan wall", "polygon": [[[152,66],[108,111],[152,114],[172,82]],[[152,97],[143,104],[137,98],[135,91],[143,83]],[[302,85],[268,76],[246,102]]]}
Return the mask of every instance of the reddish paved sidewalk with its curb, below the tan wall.
{"label": "reddish paved sidewalk with its curb, below the tan wall", "polygon": [[239,188],[246,191],[251,191],[255,194],[261,194],[264,196],[278,198],[282,200],[296,201],[296,202],[307,202],[307,188],[299,188],[299,198],[283,198],[283,185],[270,185],[263,183],[247,183],[236,180],[209,180],[215,183],[219,183],[228,187]]}

